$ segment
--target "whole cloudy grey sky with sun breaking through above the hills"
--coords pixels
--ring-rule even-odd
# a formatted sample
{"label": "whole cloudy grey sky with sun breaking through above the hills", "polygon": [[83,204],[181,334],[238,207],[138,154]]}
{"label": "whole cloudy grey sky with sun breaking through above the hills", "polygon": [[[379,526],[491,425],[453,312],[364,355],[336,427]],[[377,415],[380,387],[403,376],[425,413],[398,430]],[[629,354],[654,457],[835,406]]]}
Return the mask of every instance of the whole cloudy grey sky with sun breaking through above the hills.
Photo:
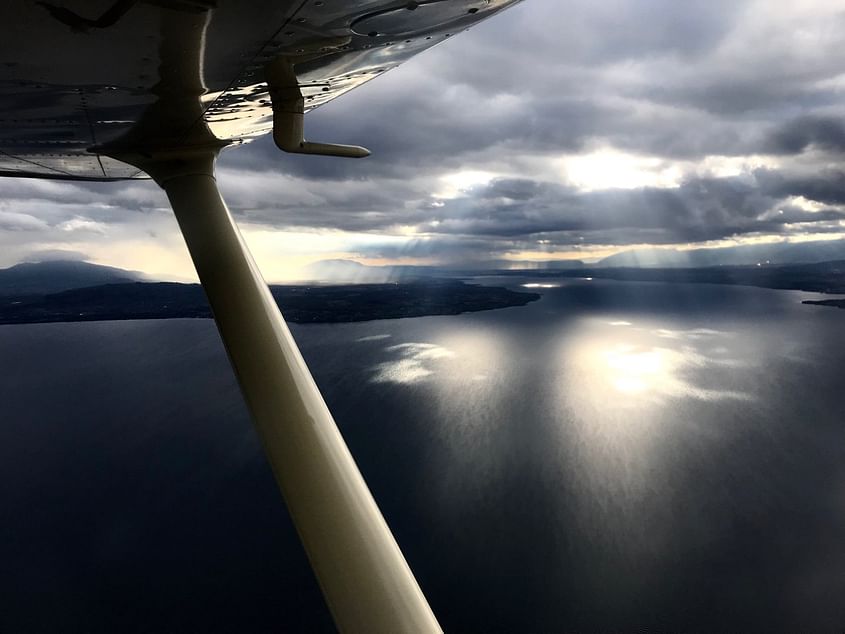
{"label": "whole cloudy grey sky with sun breaking through above the hills", "polygon": [[[843,0],[525,0],[306,117],[367,159],[224,151],[265,277],[845,236]],[[0,179],[0,266],[193,267],[149,181]]]}

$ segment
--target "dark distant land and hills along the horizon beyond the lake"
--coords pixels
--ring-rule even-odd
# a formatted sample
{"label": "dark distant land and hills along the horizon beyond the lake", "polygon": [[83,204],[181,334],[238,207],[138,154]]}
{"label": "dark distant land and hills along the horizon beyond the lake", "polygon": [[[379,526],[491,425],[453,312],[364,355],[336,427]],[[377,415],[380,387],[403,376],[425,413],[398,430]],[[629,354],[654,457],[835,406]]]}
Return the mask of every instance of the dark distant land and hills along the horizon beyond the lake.
{"label": "dark distant land and hills along the horizon beyond the lake", "polygon": [[[339,266],[347,272],[361,273],[361,279],[378,279],[370,276],[368,269],[381,267],[348,264],[344,260],[330,261],[325,267]],[[421,277],[421,267],[408,267],[417,275],[412,276],[409,271],[399,282],[271,285],[270,289],[285,318],[297,323],[456,315],[523,306],[540,298],[536,293],[479,286],[460,279],[477,275],[732,284],[845,295],[845,260],[700,268],[605,268],[579,264],[577,268],[441,270],[439,276],[431,277]],[[200,285],[144,282],[140,277],[139,273],[86,262],[28,263],[0,270],[0,324],[211,317]],[[843,298],[804,303],[845,308]]]}

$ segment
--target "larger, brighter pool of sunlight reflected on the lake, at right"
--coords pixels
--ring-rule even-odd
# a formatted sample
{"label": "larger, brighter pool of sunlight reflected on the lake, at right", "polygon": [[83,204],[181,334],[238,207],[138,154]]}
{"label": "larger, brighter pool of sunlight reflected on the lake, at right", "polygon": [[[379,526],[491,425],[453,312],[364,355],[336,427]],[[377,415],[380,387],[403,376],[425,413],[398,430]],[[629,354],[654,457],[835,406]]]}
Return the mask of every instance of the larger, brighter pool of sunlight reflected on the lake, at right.
{"label": "larger, brighter pool of sunlight reflected on the lake, at right", "polygon": [[[706,420],[701,412],[713,417],[721,403],[754,399],[730,384],[729,375],[747,363],[726,352],[732,337],[633,318],[583,319],[571,336],[561,337],[557,416],[561,446],[573,449],[564,450],[560,460],[580,465],[576,472],[587,507],[603,499],[628,508],[668,486],[659,474],[672,460],[679,434],[691,428],[713,433],[699,428],[698,421]],[[620,508],[615,512],[621,532],[604,524],[602,530],[610,540],[621,534],[634,539],[638,520]],[[585,517],[609,512],[596,508]],[[653,531],[638,539],[644,548],[659,543]]]}

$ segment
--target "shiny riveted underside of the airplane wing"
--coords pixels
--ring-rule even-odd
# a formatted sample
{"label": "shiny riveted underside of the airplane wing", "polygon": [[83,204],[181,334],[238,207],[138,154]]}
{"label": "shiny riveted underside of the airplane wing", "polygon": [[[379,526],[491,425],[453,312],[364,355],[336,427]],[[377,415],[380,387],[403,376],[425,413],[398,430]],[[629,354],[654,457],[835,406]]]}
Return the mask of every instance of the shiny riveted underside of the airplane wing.
{"label": "shiny riveted underside of the airplane wing", "polygon": [[[290,61],[307,112],[514,2],[6,0],[0,176],[147,178],[100,148],[125,138],[162,97],[174,46],[162,16],[168,9],[208,17],[201,108],[173,122],[183,129],[170,134],[189,137],[205,124],[237,145],[273,127],[268,62]],[[192,55],[191,33],[178,37]]]}

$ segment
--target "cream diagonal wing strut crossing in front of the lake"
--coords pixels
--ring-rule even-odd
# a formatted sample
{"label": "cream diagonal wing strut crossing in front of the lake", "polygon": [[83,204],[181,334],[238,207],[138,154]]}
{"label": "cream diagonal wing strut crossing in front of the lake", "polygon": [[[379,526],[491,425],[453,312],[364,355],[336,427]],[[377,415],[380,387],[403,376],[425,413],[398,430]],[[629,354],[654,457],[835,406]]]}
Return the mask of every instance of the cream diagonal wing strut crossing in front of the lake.
{"label": "cream diagonal wing strut crossing in front of the lake", "polygon": [[209,150],[156,171],[273,473],[342,632],[440,632],[214,178]]}

